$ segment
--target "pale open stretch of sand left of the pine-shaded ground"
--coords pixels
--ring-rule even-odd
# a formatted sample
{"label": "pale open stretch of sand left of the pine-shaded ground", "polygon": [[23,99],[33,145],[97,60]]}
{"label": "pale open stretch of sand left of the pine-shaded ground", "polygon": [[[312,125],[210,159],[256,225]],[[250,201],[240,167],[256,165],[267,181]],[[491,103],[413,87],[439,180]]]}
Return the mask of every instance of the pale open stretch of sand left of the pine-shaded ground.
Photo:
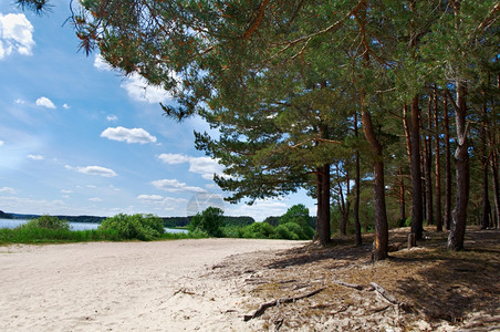
{"label": "pale open stretch of sand left of the pine-shaded ground", "polygon": [[[0,247],[0,331],[246,331],[225,258],[300,246],[202,239]],[[254,324],[254,323],[253,323]]]}

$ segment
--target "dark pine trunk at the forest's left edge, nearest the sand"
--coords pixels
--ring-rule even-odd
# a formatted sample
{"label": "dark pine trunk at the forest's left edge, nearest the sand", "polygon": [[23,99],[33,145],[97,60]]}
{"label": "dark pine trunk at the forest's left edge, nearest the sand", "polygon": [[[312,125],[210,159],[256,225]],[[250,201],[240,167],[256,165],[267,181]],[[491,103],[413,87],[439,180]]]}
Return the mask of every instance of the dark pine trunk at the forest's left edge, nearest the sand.
{"label": "dark pine trunk at the forest's left edge, nearest the sand", "polygon": [[317,180],[317,212],[316,236],[320,245],[326,247],[330,243],[330,164],[316,169]]}

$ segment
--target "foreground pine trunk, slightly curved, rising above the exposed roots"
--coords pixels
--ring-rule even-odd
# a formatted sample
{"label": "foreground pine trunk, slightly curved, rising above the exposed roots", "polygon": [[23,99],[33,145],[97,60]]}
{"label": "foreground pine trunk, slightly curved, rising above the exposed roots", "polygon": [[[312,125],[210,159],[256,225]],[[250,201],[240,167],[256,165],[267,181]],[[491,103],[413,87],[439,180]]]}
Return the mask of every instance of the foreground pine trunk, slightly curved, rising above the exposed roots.
{"label": "foreground pine trunk, slightly curved, rising above the exposed roots", "polygon": [[388,252],[388,225],[385,206],[385,181],[382,145],[373,128],[372,115],[362,113],[363,131],[368,141],[373,155],[373,180],[374,180],[374,215],[375,215],[375,240],[372,251],[374,261],[384,260]]}

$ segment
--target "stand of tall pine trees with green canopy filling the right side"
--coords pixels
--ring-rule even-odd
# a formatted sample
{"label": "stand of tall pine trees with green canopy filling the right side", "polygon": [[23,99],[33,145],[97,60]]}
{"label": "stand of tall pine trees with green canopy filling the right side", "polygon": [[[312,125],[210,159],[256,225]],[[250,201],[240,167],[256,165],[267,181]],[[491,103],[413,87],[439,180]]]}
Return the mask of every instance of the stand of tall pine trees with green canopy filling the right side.
{"label": "stand of tall pine trees with green canopy filling the right side", "polygon": [[[25,9],[49,2],[18,0]],[[494,0],[82,0],[81,49],[171,92],[175,121],[218,135],[197,148],[226,166],[229,201],[317,200],[315,239],[424,225],[463,249],[499,222],[499,14]]]}

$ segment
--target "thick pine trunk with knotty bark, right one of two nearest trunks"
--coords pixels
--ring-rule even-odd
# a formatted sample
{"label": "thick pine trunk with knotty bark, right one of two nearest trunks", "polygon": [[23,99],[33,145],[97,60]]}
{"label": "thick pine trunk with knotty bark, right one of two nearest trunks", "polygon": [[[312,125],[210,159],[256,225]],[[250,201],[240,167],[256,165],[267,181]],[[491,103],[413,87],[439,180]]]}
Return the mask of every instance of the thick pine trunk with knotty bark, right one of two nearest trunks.
{"label": "thick pine trunk with knotty bark, right one of two nearest trunks", "polygon": [[457,105],[455,110],[458,146],[455,151],[455,165],[457,174],[457,197],[452,212],[451,229],[448,236],[448,249],[463,249],[467,225],[467,206],[469,204],[469,152],[466,125],[467,104],[466,87],[457,83]]}

